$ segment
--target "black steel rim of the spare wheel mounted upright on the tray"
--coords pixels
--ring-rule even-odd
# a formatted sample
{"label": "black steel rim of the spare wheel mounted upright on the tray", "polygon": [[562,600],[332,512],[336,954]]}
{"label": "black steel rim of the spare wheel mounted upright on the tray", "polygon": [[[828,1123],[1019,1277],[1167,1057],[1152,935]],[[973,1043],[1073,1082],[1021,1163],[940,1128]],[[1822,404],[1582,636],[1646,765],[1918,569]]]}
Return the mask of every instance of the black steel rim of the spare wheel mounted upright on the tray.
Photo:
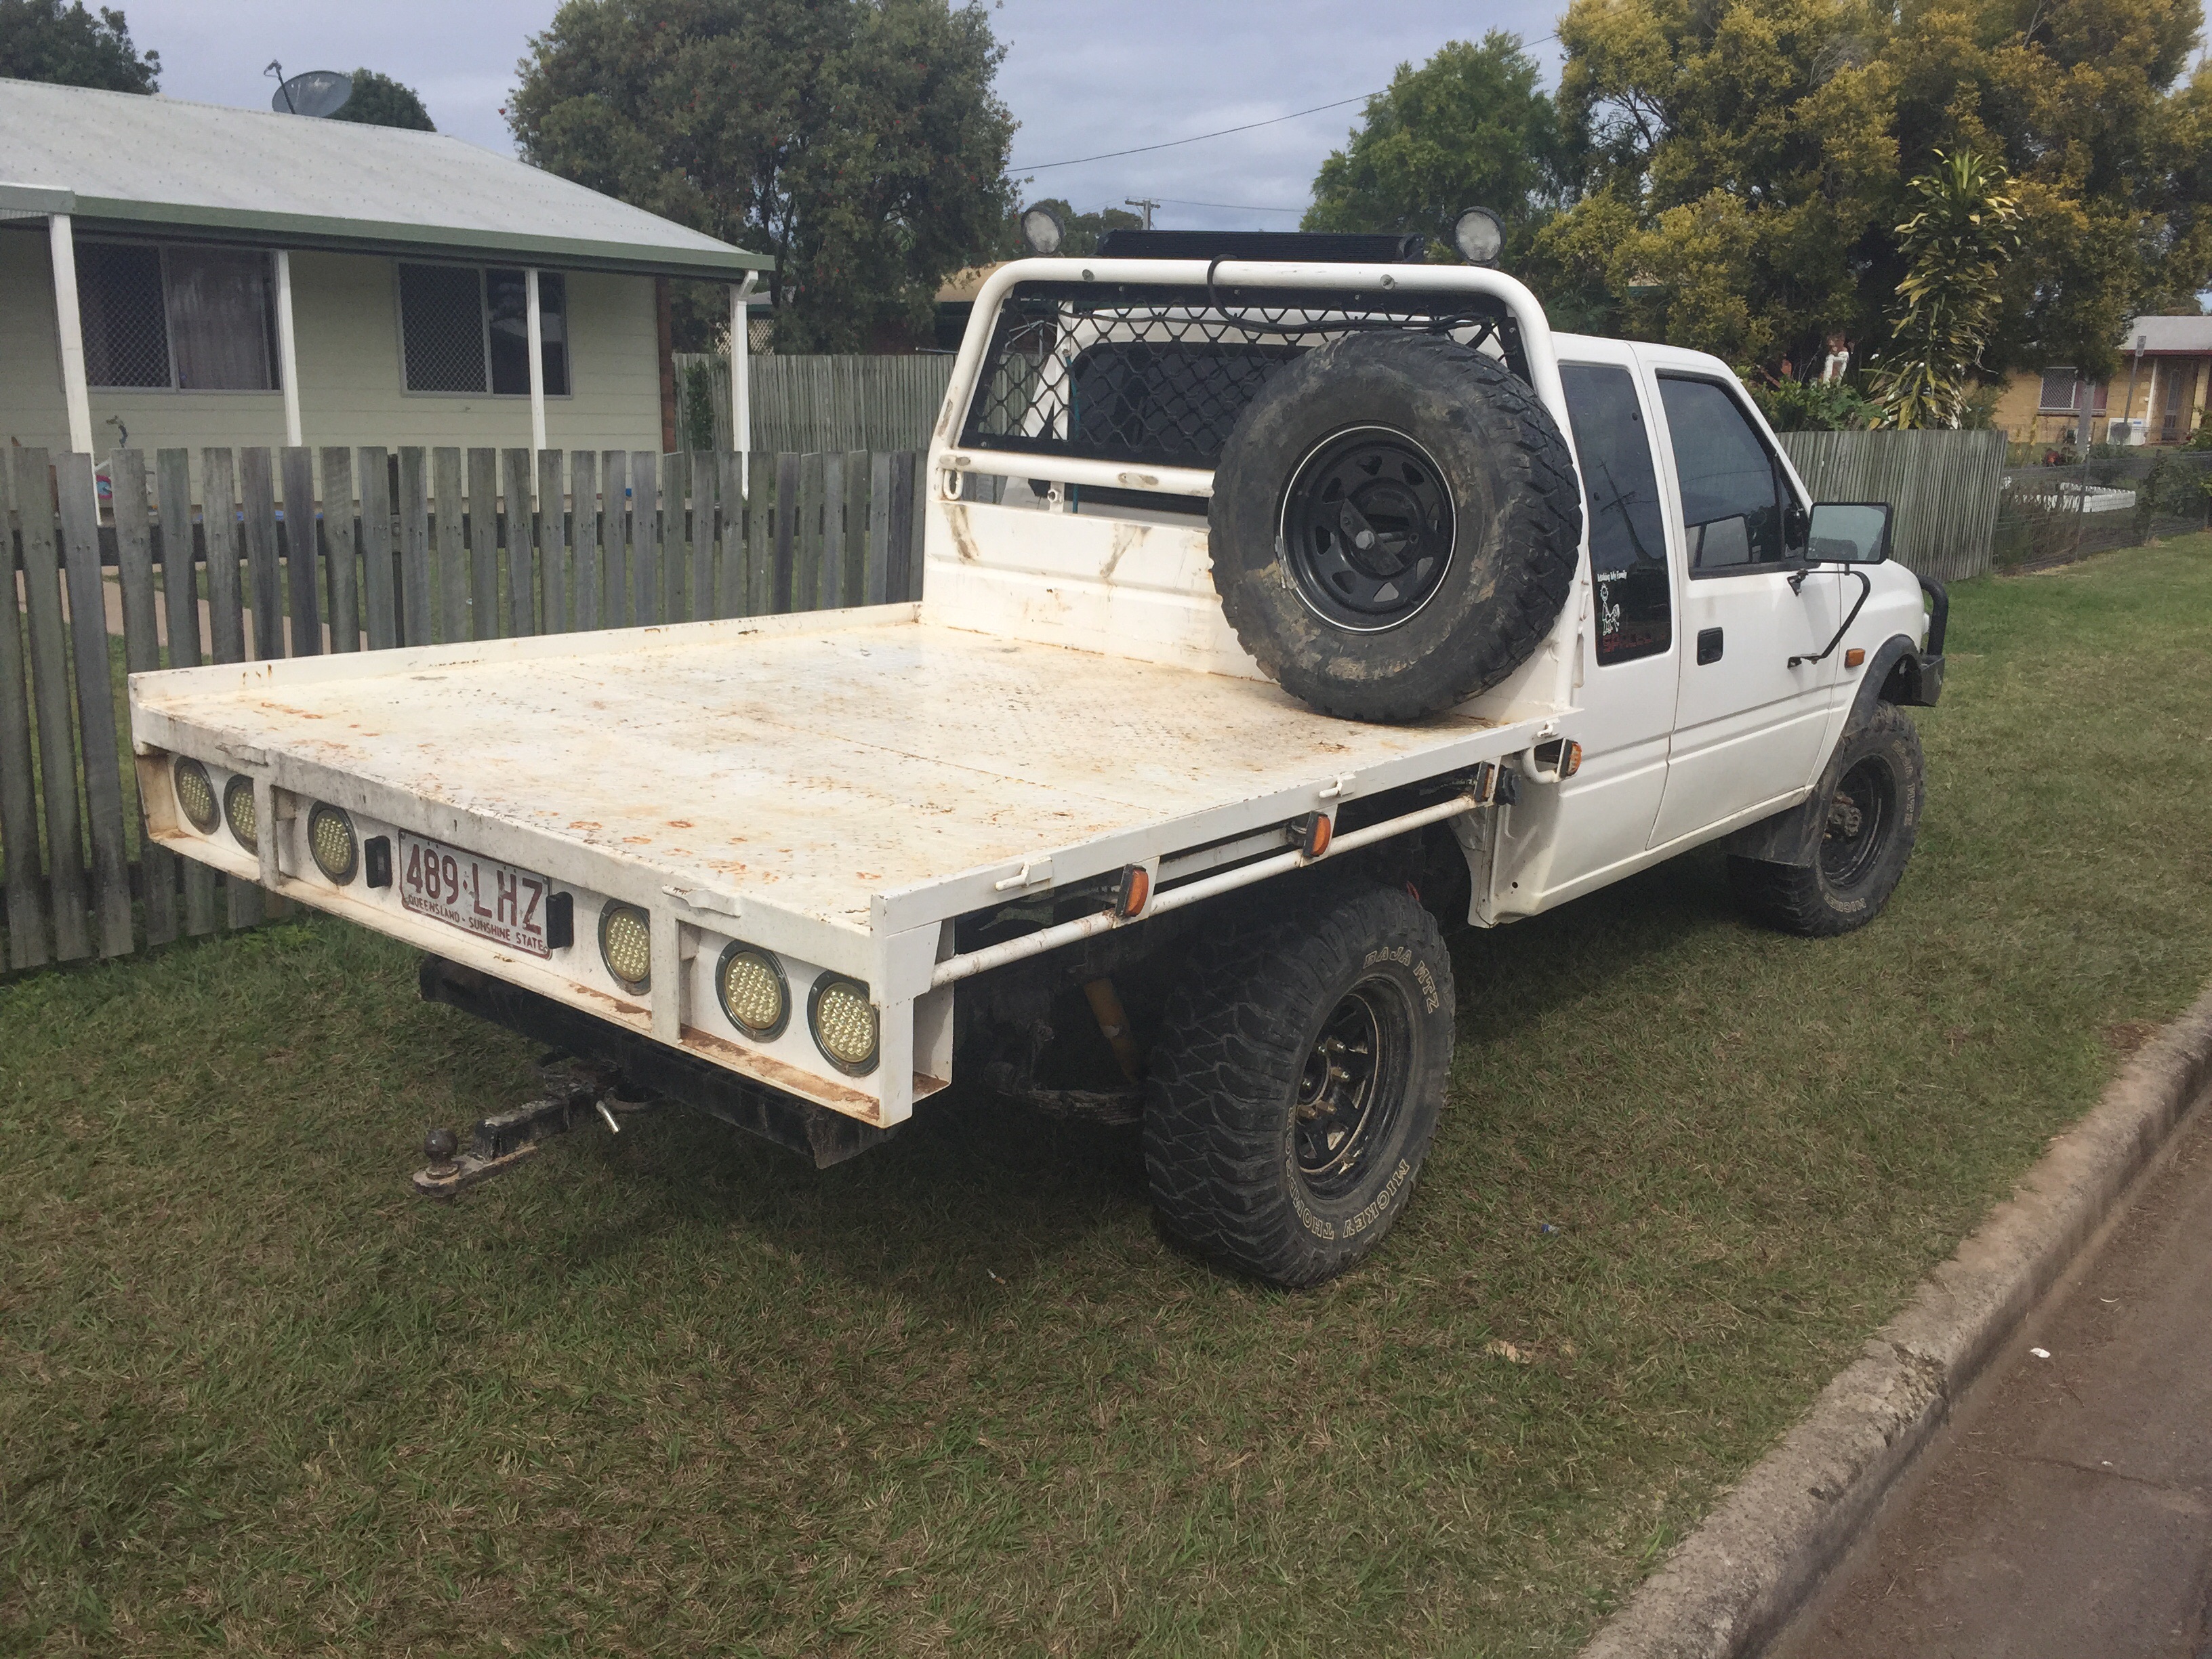
{"label": "black steel rim of the spare wheel mounted upright on the tray", "polygon": [[1298,462],[1281,533],[1305,604],[1338,628],[1380,633],[1436,597],[1458,511],[1427,449],[1389,427],[1354,427]]}

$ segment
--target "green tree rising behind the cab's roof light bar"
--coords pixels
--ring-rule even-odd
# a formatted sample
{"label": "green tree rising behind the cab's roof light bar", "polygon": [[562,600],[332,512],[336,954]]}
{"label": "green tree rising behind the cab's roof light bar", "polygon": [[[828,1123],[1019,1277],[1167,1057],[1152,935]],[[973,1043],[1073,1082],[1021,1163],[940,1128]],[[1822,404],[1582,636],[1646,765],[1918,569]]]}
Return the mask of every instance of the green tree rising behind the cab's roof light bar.
{"label": "green tree rising behind the cab's roof light bar", "polygon": [[1321,164],[1305,230],[1418,230],[1433,259],[1458,259],[1451,226],[1491,208],[1520,259],[1568,190],[1575,144],[1520,35],[1447,42],[1427,64],[1398,64],[1360,126]]}

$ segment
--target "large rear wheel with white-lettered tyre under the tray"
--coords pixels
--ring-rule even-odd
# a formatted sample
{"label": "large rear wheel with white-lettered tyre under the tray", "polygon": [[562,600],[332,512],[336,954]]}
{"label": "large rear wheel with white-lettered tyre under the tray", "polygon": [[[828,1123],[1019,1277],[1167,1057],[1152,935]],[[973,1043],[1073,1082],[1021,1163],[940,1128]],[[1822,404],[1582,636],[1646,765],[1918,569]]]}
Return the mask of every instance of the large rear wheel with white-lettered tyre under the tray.
{"label": "large rear wheel with white-lettered tyre under the tray", "polygon": [[1150,1055],[1144,1161],[1168,1232],[1221,1265],[1314,1285],[1405,1212],[1451,1064],[1451,956],[1396,887],[1206,940]]}

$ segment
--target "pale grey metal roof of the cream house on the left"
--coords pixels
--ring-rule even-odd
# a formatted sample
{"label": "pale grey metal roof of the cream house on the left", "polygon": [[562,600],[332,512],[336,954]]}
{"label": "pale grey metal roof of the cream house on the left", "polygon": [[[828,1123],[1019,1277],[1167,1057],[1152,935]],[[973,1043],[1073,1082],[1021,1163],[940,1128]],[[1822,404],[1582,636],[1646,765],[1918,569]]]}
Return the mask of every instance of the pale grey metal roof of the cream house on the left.
{"label": "pale grey metal roof of the cream house on the left", "polygon": [[445,133],[0,80],[0,219],[730,281],[774,261]]}

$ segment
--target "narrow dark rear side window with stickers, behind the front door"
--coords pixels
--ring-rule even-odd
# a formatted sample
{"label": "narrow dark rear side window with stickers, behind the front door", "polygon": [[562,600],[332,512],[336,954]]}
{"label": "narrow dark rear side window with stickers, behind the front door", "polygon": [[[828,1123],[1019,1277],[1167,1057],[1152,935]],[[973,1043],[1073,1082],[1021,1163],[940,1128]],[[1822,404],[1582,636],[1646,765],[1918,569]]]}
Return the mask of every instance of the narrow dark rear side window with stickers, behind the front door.
{"label": "narrow dark rear side window with stickers, behind the front door", "polygon": [[1562,363],[1582,487],[1590,498],[1590,577],[1597,582],[1597,661],[1657,657],[1674,639],[1666,522],[1652,440],[1628,369]]}

